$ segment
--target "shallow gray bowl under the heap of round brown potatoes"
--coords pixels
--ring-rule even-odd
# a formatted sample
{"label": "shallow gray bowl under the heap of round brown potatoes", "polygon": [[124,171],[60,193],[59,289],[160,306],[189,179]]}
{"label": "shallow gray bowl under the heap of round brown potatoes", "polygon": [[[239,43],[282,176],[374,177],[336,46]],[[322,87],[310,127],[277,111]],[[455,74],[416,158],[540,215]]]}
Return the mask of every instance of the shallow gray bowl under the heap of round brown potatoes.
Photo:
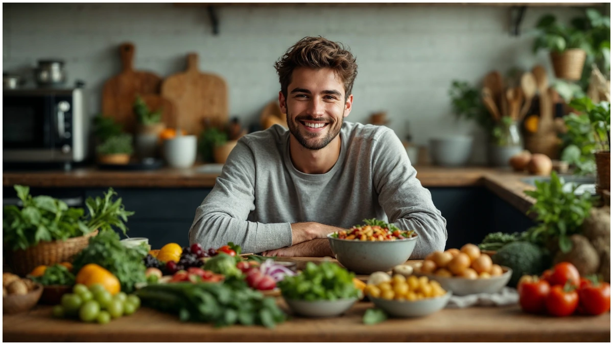
{"label": "shallow gray bowl under the heap of round brown potatoes", "polygon": [[451,290],[456,296],[472,295],[473,293],[497,293],[511,280],[513,270],[502,266],[503,273],[497,277],[466,279],[462,277],[441,277],[435,274],[425,274],[415,271],[416,276],[426,276],[437,281],[443,289]]}

